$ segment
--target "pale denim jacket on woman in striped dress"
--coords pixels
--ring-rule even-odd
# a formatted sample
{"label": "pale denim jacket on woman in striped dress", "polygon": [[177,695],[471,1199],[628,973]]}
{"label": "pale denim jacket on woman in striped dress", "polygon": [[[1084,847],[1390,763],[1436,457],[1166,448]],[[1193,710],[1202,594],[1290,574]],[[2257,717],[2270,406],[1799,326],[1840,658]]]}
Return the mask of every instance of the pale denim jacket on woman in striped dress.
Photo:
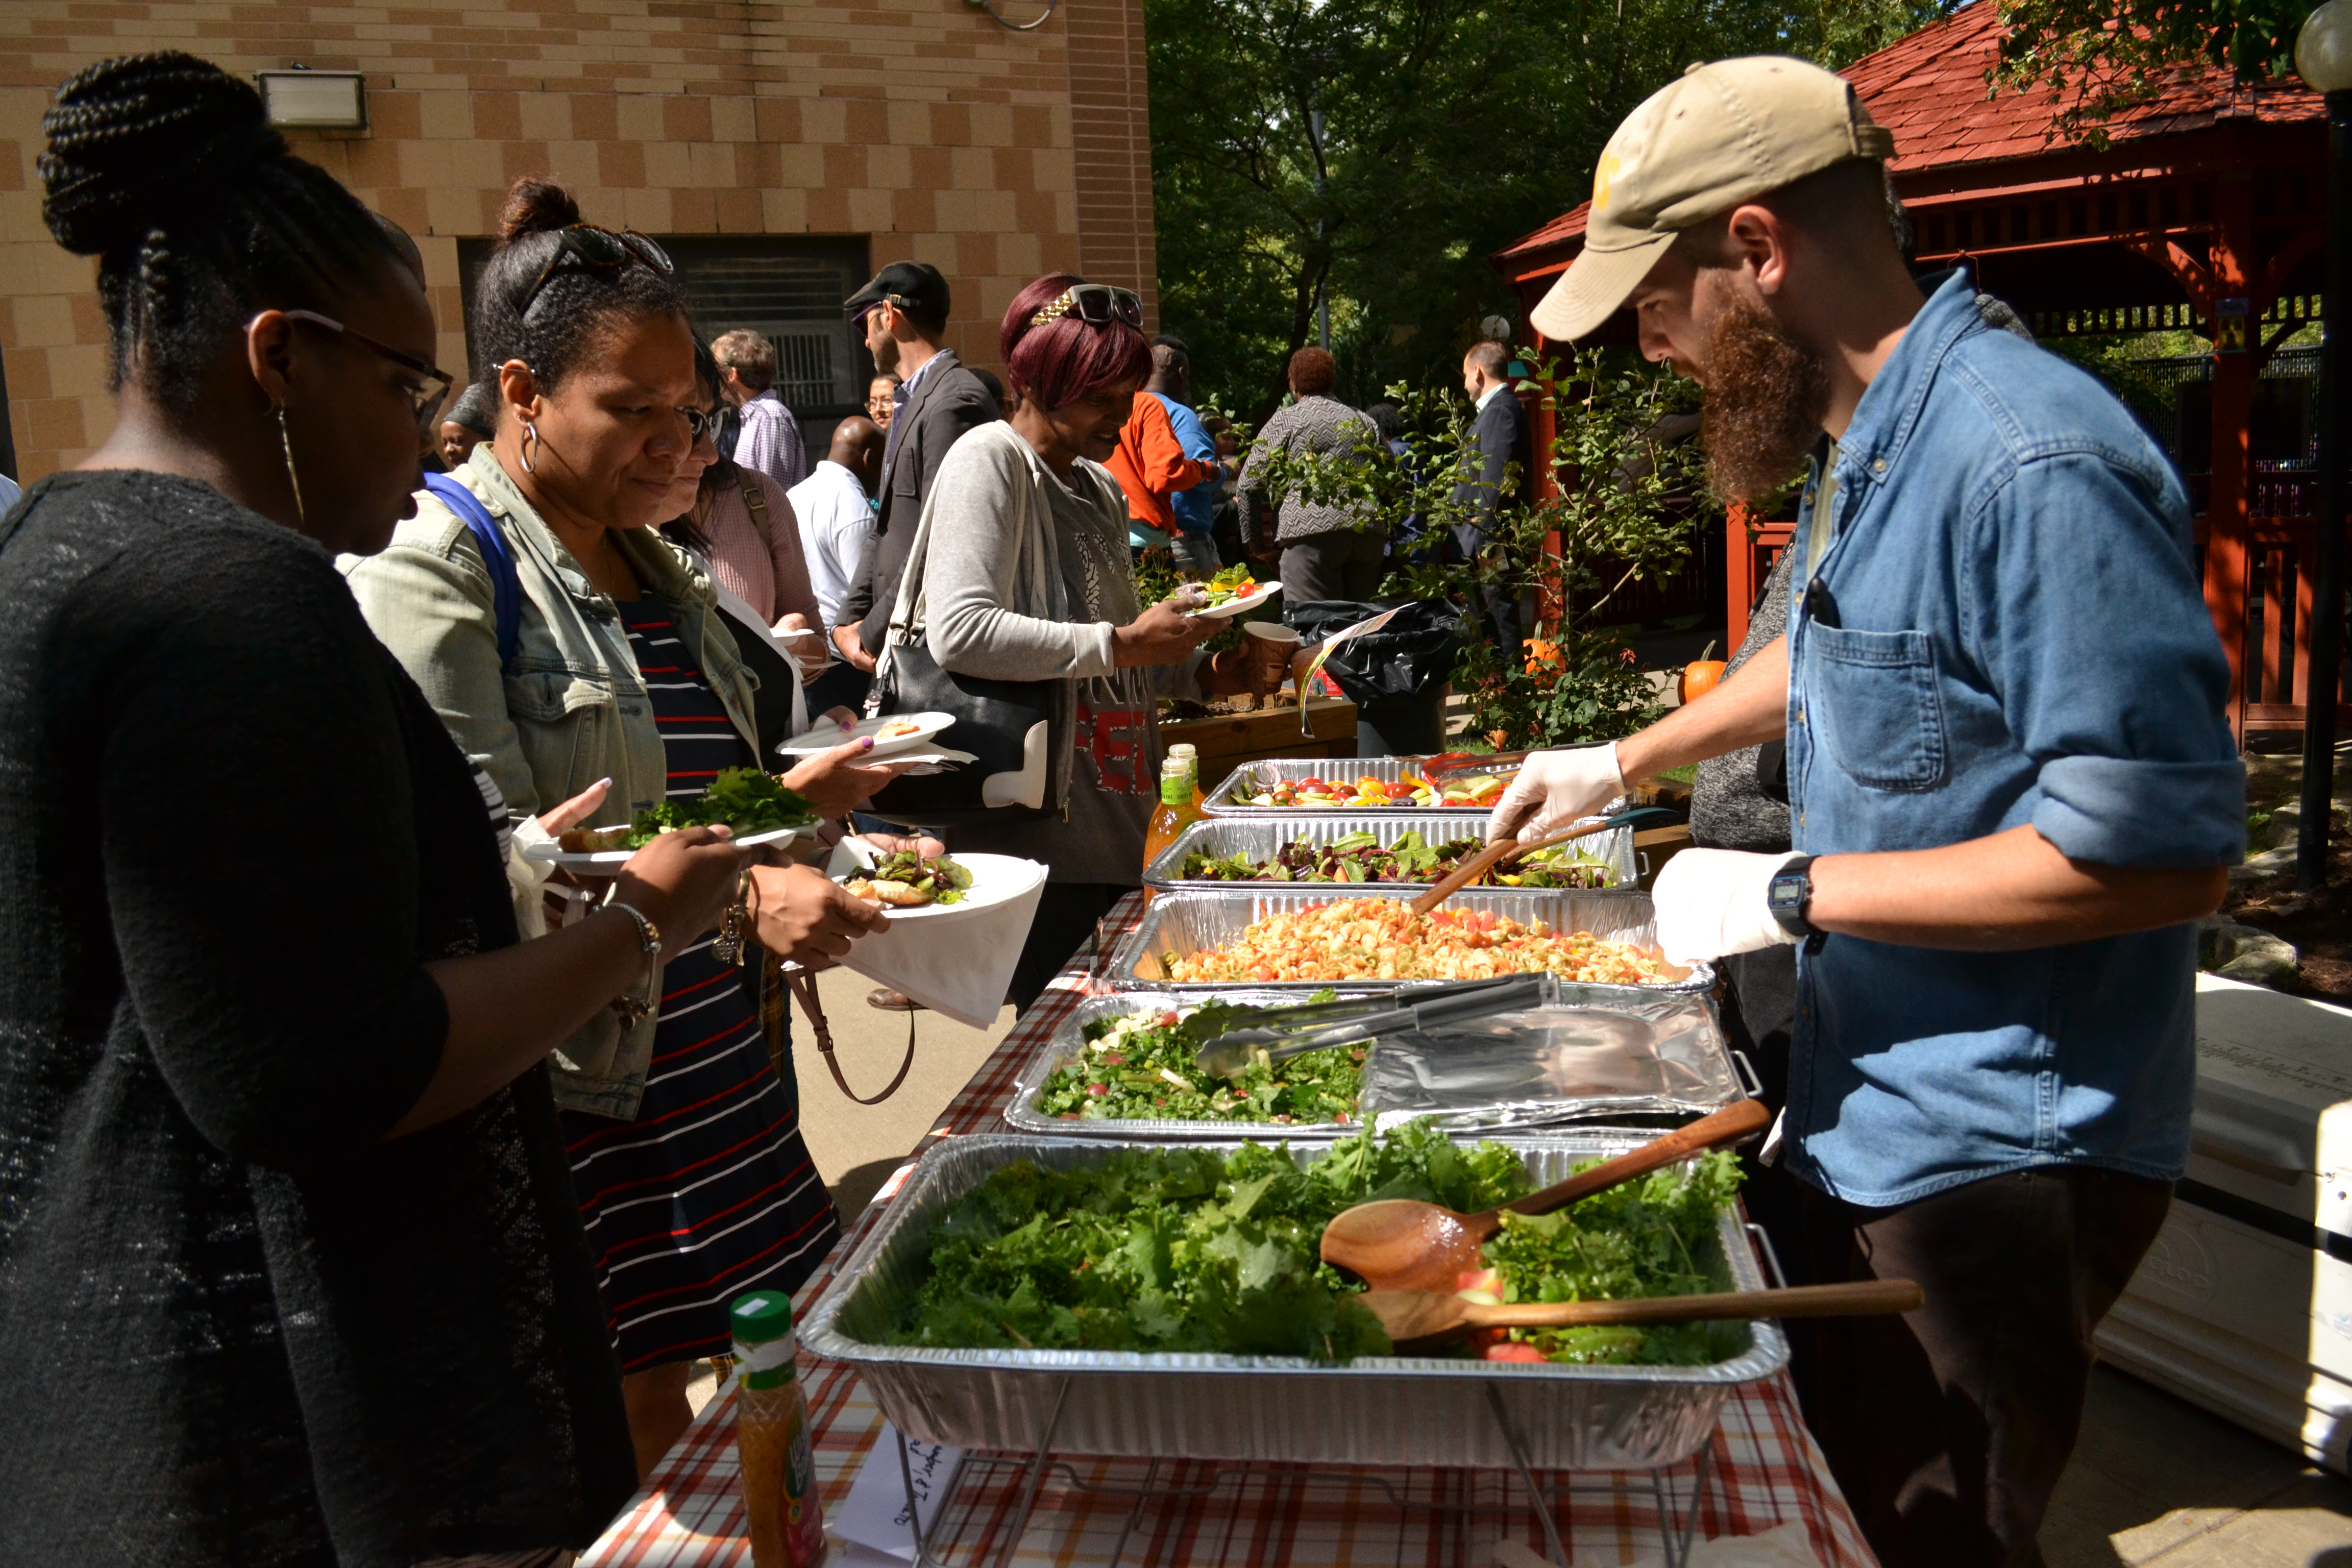
{"label": "pale denim jacket on woman in striped dress", "polygon": [[[628,823],[668,790],[661,731],[628,651],[628,628],[499,468],[489,442],[452,477],[482,498],[515,555],[522,578],[515,661],[499,668],[489,569],[473,534],[433,491],[416,491],[416,515],[393,531],[381,555],[341,557],[360,614],[517,818],[612,778],[595,825]],[[727,717],[757,750],[757,677],[736,656],[710,578],[652,529],[621,534],[619,548],[647,592],[670,609]],[[616,1013],[600,1011],[550,1063],[555,1103],[633,1119],[652,1056],[652,1016],[623,1032]]]}

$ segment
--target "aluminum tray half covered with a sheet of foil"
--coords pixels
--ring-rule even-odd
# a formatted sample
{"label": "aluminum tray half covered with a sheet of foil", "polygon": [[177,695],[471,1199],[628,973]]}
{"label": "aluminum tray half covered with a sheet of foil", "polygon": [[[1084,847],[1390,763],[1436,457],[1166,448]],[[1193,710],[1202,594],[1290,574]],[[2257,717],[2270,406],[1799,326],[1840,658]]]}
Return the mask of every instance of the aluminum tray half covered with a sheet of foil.
{"label": "aluminum tray half covered with a sheet of foil", "polygon": [[[1350,987],[1334,987],[1348,994]],[[1237,1004],[1296,1004],[1296,992],[1228,987]],[[1364,994],[1357,990],[1355,994]],[[1416,1117],[1454,1133],[1559,1126],[1592,1117],[1684,1117],[1740,1098],[1722,1023],[1708,997],[1628,994],[1616,985],[1559,985],[1545,1004],[1446,1025],[1428,1034],[1388,1034],[1364,1058],[1364,1095],[1355,1121],[1143,1121],[1051,1117],[1037,1091],[1087,1048],[1087,1025],[1127,1013],[1200,1006],[1204,994],[1120,992],[1089,997],[1030,1056],[1014,1081],[1004,1121],[1054,1138],[1127,1143],[1200,1143],[1230,1138],[1341,1138],[1364,1121],[1392,1126]]]}

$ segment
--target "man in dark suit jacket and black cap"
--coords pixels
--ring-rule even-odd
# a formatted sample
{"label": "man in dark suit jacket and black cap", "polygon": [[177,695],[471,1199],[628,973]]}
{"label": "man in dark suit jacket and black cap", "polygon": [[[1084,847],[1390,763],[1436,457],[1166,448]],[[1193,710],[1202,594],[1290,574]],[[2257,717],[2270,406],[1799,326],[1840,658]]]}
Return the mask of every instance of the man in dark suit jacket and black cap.
{"label": "man in dark suit jacket and black cap", "polygon": [[931,475],[964,430],[997,418],[997,404],[943,348],[948,331],[948,280],[924,261],[891,261],[870,284],[849,296],[849,320],[863,322],[875,369],[898,376],[891,388],[889,444],[882,451],[882,505],[866,562],[842,597],[833,646],[873,675],[898,604],[898,578],[915,543],[922,498]]}

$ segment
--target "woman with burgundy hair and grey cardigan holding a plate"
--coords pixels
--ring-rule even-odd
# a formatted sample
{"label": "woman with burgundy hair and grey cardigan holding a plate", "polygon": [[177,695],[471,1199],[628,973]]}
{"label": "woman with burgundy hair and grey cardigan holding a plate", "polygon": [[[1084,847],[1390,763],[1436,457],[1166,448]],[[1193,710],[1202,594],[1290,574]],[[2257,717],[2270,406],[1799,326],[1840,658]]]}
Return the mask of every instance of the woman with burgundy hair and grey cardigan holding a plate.
{"label": "woman with burgundy hair and grey cardigan holding a plate", "polygon": [[[1183,602],[1145,609],[1127,555],[1127,496],[1103,468],[1150,376],[1143,303],[1051,273],[1021,289],[997,339],[1018,402],[948,451],[924,505],[924,637],[943,670],[1070,682],[1061,799],[1044,818],[964,827],[953,849],[1047,865],[1009,999],[1028,1009],[1120,893],[1143,884],[1162,696],[1272,691],[1282,672],[1235,649]],[[894,616],[894,623],[903,616]],[[1275,646],[1275,644],[1268,644]]]}

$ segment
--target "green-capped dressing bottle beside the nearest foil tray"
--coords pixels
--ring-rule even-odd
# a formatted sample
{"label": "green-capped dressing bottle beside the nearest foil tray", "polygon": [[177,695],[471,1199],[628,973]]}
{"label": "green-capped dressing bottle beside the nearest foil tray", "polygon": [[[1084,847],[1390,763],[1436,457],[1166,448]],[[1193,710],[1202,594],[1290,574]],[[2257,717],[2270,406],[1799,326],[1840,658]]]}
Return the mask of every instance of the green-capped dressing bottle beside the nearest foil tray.
{"label": "green-capped dressing bottle beside the nearest foil tray", "polygon": [[736,1342],[736,1458],[753,1568],[816,1568],[826,1512],[816,1500],[809,1399],[800,1392],[793,1298],[750,1291],[731,1309]]}

